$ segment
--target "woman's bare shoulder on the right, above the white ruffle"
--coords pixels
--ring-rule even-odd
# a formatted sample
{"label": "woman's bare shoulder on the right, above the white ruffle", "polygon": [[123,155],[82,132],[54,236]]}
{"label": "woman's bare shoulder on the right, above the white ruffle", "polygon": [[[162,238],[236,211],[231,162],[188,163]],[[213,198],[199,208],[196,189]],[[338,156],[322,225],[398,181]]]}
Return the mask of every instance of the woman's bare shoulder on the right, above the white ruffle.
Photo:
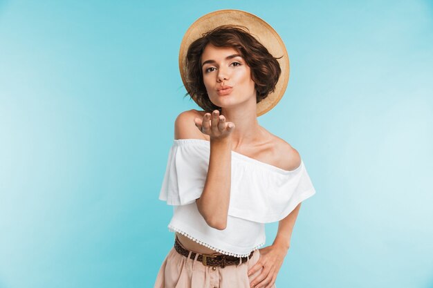
{"label": "woman's bare shoulder on the right, above the white ruffle", "polygon": [[273,159],[275,166],[291,171],[297,169],[301,164],[301,156],[298,151],[288,142],[280,137],[270,134],[273,143]]}

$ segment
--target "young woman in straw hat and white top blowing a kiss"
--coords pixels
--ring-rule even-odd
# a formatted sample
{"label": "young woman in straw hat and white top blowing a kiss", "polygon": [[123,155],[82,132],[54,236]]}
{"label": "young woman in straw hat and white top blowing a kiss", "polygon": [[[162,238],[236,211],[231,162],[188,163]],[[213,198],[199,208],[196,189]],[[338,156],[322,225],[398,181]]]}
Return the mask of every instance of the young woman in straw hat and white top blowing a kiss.
{"label": "young woman in straw hat and white top blowing a kiss", "polygon": [[[315,193],[300,154],[257,121],[286,88],[284,44],[255,15],[219,10],[187,31],[180,64],[203,111],[174,125],[160,200],[174,206],[175,244],[155,287],[275,287],[301,202]],[[264,224],[277,221],[273,244],[259,249]]]}

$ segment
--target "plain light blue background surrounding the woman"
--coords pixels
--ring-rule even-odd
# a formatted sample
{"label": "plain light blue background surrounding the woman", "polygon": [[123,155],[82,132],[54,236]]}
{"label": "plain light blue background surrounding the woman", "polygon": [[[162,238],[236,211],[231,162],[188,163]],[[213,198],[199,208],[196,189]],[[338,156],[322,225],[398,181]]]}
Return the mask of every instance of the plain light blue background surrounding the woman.
{"label": "plain light blue background surrounding the woman", "polygon": [[[246,10],[291,60],[259,123],[304,159],[277,287],[433,287],[432,1],[0,1],[0,287],[152,287],[197,18]],[[267,244],[277,223],[267,226]]]}

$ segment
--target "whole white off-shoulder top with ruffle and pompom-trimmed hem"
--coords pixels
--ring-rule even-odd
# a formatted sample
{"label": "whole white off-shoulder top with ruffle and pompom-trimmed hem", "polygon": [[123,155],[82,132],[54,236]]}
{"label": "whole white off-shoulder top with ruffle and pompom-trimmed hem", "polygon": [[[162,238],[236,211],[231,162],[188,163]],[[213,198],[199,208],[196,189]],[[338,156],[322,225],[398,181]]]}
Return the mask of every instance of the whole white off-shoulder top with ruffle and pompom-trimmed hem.
{"label": "whole white off-shoulder top with ruffle and pompom-trimmed hem", "polygon": [[303,160],[297,169],[286,171],[232,151],[227,227],[214,229],[195,202],[205,185],[209,157],[207,140],[174,140],[159,199],[174,207],[169,231],[220,253],[248,256],[265,244],[265,223],[282,220],[315,194]]}

